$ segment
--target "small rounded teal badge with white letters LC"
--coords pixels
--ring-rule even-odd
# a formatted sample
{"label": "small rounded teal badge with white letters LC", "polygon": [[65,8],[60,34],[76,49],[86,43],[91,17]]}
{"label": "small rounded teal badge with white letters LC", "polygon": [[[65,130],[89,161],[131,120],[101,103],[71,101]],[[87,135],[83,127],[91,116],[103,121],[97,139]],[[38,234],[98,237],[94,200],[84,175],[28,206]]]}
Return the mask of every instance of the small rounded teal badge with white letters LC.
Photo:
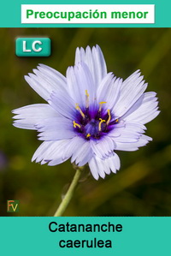
{"label": "small rounded teal badge with white letters LC", "polygon": [[15,40],[15,54],[18,57],[49,57],[49,38],[18,38]]}

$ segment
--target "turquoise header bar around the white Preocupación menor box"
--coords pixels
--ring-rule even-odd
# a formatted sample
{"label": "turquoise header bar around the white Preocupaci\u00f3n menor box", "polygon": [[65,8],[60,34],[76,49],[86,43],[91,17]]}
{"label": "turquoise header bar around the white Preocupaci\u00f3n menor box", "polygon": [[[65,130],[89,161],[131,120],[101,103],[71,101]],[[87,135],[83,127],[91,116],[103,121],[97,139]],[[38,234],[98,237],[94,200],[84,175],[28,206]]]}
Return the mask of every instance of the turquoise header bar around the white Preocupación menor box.
{"label": "turquoise header bar around the white Preocupaci\u00f3n menor box", "polygon": [[155,4],[154,24],[21,24],[21,4],[56,4],[56,0],[35,1],[6,1],[1,5],[0,27],[171,27],[170,9],[171,2],[168,0],[153,1],[57,1],[57,4]]}

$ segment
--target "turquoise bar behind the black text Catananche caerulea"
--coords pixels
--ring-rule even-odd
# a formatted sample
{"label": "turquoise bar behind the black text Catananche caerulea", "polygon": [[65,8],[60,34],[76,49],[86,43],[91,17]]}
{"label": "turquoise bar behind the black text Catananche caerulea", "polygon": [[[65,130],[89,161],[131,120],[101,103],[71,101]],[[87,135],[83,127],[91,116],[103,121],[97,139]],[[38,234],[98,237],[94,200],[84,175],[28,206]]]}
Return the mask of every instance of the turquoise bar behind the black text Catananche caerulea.
{"label": "turquoise bar behind the black text Catananche caerulea", "polygon": [[[50,226],[51,223],[51,226]],[[122,225],[122,231],[105,224]],[[71,225],[98,224],[97,232],[74,232]],[[3,255],[168,255],[170,253],[171,217],[1,217],[1,252]],[[56,230],[60,225],[68,228]],[[51,232],[56,230],[55,232]],[[68,230],[67,230],[68,229]],[[121,229],[120,229],[121,230]],[[60,247],[66,241],[112,241],[112,247]],[[84,242],[85,244],[85,242]],[[96,243],[97,244],[97,243]],[[81,253],[81,254],[80,254]]]}

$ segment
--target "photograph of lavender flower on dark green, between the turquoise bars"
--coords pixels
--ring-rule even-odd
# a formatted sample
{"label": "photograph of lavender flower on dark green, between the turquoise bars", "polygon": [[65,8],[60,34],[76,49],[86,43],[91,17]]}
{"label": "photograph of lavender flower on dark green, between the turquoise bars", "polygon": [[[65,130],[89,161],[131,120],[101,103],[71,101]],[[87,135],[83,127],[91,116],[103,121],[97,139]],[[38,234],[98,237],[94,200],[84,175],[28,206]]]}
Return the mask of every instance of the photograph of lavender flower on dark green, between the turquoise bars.
{"label": "photograph of lavender flower on dark green, between the turquoise bars", "polygon": [[[0,215],[170,216],[171,30],[1,31]],[[36,36],[50,57],[17,57]]]}

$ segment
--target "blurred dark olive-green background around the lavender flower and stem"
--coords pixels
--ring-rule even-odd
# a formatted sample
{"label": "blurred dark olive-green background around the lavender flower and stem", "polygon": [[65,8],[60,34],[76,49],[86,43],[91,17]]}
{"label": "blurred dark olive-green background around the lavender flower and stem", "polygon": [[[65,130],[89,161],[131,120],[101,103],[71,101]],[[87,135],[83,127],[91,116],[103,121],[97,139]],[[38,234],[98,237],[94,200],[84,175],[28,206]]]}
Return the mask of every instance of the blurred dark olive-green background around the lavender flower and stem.
{"label": "blurred dark olive-green background around the lavender flower and stem", "polygon": [[[49,37],[50,57],[16,57],[16,37]],[[171,216],[171,29],[0,29],[0,215],[53,216],[72,181],[70,161],[55,167],[31,163],[40,145],[36,131],[12,126],[11,110],[44,103],[24,80],[38,63],[65,74],[77,46],[100,45],[108,71],[124,79],[140,68],[157,92],[161,114],[147,124],[153,138],[137,152],[117,152],[121,170],[98,181],[85,169],[64,216]],[[20,211],[7,213],[7,199]]]}

